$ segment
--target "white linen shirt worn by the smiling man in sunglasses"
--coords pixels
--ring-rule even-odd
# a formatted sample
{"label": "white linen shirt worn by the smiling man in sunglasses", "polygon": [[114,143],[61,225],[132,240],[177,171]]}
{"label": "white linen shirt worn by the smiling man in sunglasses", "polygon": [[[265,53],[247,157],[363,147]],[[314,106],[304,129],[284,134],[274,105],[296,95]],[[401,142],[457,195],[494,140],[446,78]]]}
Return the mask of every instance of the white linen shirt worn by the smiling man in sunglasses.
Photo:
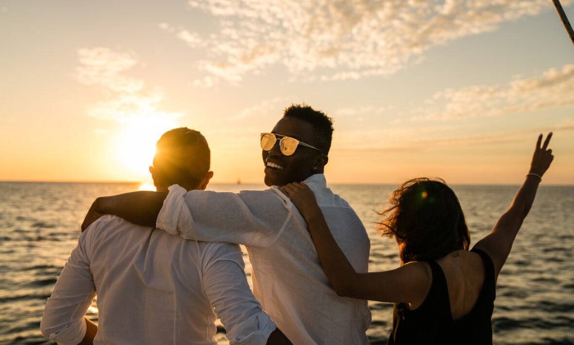
{"label": "white linen shirt worn by the smiling man in sunglasses", "polygon": [[[329,229],[357,272],[367,272],[369,237],[323,174],[304,181]],[[239,193],[170,187],[157,228],[184,238],[243,244],[253,268],[253,292],[293,344],[368,344],[367,301],[339,297],[321,267],[307,224],[276,186]]]}

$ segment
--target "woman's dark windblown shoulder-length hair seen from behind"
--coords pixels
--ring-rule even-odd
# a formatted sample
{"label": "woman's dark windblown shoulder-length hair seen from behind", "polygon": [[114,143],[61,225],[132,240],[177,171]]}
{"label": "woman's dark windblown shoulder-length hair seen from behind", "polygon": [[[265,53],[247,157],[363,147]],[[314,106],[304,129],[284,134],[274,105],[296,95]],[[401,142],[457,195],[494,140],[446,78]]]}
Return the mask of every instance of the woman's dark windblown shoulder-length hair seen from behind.
{"label": "woman's dark windblown shoulder-length hair seen from behind", "polygon": [[399,255],[410,261],[435,260],[453,250],[468,250],[470,233],[455,193],[443,180],[416,178],[398,187],[377,229],[395,238]]}

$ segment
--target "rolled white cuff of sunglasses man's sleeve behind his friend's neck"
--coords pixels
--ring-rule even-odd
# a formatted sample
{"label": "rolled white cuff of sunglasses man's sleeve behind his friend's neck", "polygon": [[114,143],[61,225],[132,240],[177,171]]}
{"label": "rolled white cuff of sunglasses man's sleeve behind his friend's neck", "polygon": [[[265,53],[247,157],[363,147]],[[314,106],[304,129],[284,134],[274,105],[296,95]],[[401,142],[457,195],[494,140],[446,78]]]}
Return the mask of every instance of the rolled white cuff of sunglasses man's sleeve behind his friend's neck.
{"label": "rolled white cuff of sunglasses man's sleeve behind his friend's neck", "polygon": [[177,222],[180,217],[182,221],[191,219],[189,208],[185,204],[185,194],[187,190],[178,185],[168,187],[169,193],[157,216],[156,228],[165,230],[172,235],[178,234]]}

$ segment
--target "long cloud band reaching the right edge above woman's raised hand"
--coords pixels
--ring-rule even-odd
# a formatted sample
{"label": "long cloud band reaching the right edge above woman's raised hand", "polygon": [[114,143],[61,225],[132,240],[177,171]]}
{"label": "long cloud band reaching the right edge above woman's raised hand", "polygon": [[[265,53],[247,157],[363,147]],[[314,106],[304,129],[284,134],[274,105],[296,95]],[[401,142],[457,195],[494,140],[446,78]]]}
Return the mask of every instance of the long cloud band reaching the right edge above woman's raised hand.
{"label": "long cloud band reaching the right edge above woman's raised hand", "polygon": [[515,77],[505,87],[499,85],[445,89],[425,100],[412,120],[449,120],[574,104],[574,64],[550,68],[530,79]]}

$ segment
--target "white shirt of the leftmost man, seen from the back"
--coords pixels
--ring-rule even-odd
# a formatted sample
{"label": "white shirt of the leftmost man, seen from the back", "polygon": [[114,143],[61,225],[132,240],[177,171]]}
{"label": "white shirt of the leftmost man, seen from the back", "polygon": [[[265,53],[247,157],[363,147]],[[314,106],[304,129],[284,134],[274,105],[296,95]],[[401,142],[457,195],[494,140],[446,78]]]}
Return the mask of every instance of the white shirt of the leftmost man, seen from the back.
{"label": "white shirt of the leftmost man, seen from the back", "polygon": [[79,343],[97,291],[94,344],[216,344],[214,307],[231,344],[265,344],[276,326],[243,269],[236,244],[182,241],[106,215],[80,236],[40,328],[59,344]]}

